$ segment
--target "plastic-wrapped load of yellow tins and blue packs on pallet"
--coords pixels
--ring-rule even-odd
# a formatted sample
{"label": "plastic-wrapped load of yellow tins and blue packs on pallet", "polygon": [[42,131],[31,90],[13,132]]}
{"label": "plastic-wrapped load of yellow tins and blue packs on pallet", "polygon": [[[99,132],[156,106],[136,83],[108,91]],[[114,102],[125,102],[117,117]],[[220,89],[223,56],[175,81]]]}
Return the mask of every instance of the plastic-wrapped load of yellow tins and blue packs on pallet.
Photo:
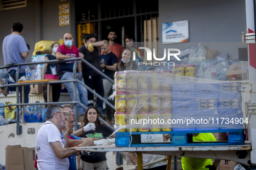
{"label": "plastic-wrapped load of yellow tins and blue packs on pallet", "polygon": [[238,82],[196,78],[193,65],[172,71],[116,72],[119,132],[243,129]]}

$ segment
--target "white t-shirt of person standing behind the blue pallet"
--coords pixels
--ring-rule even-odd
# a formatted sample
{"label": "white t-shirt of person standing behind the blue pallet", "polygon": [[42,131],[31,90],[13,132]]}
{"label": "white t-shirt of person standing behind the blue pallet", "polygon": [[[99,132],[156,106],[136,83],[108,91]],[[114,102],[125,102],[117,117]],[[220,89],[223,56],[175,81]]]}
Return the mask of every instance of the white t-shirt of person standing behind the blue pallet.
{"label": "white t-shirt of person standing behind the blue pallet", "polygon": [[[163,142],[163,135],[167,134],[147,134],[147,135],[141,135],[141,142]],[[158,154],[143,154],[143,164],[155,161],[157,159],[160,159],[162,157],[165,157],[164,155],[158,155]],[[166,165],[167,161],[161,161],[156,164],[152,164],[146,167],[143,167],[143,169],[149,169],[153,167],[159,167],[162,165]]]}

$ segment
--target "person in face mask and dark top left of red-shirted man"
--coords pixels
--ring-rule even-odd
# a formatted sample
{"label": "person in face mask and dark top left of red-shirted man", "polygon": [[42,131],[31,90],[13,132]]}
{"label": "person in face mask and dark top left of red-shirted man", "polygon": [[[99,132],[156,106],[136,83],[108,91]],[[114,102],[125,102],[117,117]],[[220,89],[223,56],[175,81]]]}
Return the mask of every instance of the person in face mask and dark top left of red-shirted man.
{"label": "person in face mask and dark top left of red-shirted man", "polygon": [[[56,42],[51,45],[52,48],[52,54],[47,54],[45,56],[44,61],[49,60],[56,60],[56,52],[60,45]],[[57,69],[56,69],[57,63],[45,63],[42,70],[42,79],[45,79],[45,74],[52,74],[57,75]],[[46,85],[42,85],[43,87],[43,97],[45,99],[45,102],[47,102],[47,88]],[[58,84],[52,84],[52,101],[58,102],[58,99],[60,97],[62,85],[60,83]]]}

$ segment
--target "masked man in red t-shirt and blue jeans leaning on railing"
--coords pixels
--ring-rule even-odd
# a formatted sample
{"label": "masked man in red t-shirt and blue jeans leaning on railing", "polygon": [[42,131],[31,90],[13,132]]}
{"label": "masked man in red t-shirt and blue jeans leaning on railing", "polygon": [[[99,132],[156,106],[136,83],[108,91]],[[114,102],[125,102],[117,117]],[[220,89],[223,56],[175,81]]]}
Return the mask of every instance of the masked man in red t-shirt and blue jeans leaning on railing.
{"label": "masked man in red t-shirt and blue jeans leaning on railing", "polygon": [[[79,51],[78,48],[72,45],[73,37],[71,33],[67,32],[64,35],[64,44],[59,46],[56,53],[57,60],[63,60],[68,58],[78,58]],[[69,62],[61,62],[57,64],[57,72],[58,79],[60,80],[73,80],[73,66],[75,61]],[[82,75],[82,66],[79,62],[77,65],[78,72],[76,73],[76,77],[78,80],[84,84],[83,75]],[[68,89],[68,93],[70,94],[71,100],[74,101],[74,83],[67,82],[64,83],[65,87]],[[88,107],[87,104],[87,89],[82,86],[80,83],[77,83],[77,101],[84,104],[84,106]],[[85,109],[78,104],[78,116],[83,115],[85,113]]]}

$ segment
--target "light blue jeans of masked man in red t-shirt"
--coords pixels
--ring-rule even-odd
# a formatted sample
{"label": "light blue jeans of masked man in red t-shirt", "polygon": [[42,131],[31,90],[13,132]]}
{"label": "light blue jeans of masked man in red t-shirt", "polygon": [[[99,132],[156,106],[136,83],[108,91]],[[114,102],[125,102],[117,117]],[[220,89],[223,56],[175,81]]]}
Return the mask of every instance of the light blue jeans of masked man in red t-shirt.
{"label": "light blue jeans of masked man in red t-shirt", "polygon": [[[78,74],[78,73],[77,73]],[[60,80],[73,80],[73,72],[65,72]],[[84,84],[84,80],[81,81]],[[65,87],[68,89],[68,93],[70,94],[70,97],[72,101],[74,101],[74,82],[68,82],[64,83]],[[87,95],[87,89],[82,86],[80,83],[76,84],[76,95],[77,95],[77,101],[84,104],[84,106],[88,107],[88,95]],[[86,109],[81,107],[80,104],[78,104],[78,115],[84,114]]]}

